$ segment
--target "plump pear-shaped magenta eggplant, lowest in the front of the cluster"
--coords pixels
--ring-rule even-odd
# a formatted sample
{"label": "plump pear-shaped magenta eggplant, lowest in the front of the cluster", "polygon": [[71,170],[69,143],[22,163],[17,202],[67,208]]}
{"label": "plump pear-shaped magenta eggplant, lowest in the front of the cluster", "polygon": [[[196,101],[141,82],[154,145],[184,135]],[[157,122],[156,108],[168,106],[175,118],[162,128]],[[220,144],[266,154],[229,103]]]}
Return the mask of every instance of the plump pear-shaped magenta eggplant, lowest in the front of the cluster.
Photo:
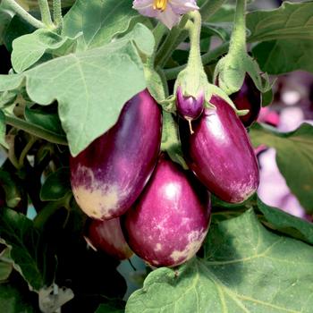
{"label": "plump pear-shaped magenta eggplant, lowest in the front of the cluster", "polygon": [[163,155],[140,198],[126,213],[126,241],[151,266],[177,266],[201,247],[210,213],[209,192],[192,173]]}

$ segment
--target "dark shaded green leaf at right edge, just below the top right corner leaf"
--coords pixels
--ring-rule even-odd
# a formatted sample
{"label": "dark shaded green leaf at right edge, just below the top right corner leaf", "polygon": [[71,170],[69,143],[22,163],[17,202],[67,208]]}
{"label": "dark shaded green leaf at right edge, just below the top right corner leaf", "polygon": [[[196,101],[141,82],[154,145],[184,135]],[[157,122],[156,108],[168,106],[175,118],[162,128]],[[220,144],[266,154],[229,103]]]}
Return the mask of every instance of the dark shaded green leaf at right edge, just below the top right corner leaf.
{"label": "dark shaded green leaf at right edge, just below the top right corner leaf", "polygon": [[313,72],[312,53],[312,39],[266,41],[252,49],[261,70],[273,75],[296,70]]}

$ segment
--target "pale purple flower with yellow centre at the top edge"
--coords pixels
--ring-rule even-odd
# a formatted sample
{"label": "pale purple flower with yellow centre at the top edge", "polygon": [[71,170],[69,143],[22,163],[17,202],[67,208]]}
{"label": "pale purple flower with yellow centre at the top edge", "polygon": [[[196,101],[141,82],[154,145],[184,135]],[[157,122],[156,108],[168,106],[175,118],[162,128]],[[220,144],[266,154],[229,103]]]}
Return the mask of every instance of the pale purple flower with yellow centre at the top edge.
{"label": "pale purple flower with yellow centre at the top edge", "polygon": [[134,0],[132,4],[140,14],[157,18],[170,30],[181,21],[182,14],[199,10],[196,0]]}

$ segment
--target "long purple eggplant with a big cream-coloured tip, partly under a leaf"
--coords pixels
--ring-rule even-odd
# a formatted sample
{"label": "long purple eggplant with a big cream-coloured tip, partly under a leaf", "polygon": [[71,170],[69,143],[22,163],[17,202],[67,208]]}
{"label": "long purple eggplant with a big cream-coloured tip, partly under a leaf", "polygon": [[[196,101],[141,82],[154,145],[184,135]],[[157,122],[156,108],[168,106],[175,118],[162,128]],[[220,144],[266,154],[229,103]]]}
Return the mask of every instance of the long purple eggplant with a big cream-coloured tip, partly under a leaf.
{"label": "long purple eggplant with a big cream-coloured tip, partly under a leaf", "polygon": [[72,191],[88,216],[110,219],[131,207],[157,164],[161,131],[161,109],[145,89],[109,131],[71,157]]}

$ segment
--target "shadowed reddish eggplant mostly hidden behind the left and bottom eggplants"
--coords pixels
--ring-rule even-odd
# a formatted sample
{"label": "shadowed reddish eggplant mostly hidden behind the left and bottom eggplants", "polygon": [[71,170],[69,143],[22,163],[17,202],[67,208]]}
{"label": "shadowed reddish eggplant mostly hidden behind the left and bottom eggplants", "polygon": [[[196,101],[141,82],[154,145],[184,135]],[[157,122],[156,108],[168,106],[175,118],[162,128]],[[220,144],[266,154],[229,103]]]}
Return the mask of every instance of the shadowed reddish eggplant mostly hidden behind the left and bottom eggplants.
{"label": "shadowed reddish eggplant mostly hidden behind the left and bottom eggplants", "polygon": [[113,258],[131,258],[132,251],[125,241],[120,217],[110,220],[91,219],[87,225],[86,241],[94,250],[102,250]]}

